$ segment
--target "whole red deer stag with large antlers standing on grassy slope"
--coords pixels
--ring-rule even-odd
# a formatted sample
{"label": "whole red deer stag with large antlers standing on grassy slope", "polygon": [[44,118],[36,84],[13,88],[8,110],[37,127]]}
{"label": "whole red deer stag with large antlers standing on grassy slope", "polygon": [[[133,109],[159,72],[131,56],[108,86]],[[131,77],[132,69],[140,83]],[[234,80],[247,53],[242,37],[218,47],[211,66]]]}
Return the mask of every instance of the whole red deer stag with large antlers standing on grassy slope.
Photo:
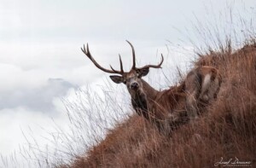
{"label": "whole red deer stag with large antlers standing on grassy slope", "polygon": [[[149,68],[161,68],[164,61],[161,55],[161,61],[158,65],[146,65],[136,67],[135,50],[132,44],[132,67],[130,72],[124,72],[123,63],[119,55],[120,71],[106,69],[100,66],[90,55],[89,45],[87,49],[82,49],[84,55],[94,63],[94,65],[103,72],[115,73],[110,78],[116,84],[125,84],[131,95],[131,104],[138,115],[143,115],[159,129],[172,129],[175,125],[187,122],[189,118],[197,116],[197,103],[204,101],[208,103],[218,93],[221,83],[218,70],[214,67],[196,67],[189,72],[187,78],[179,86],[171,87],[169,90],[154,90],[142,77],[146,76]],[[180,113],[182,111],[183,113]],[[177,113],[179,112],[179,113]],[[171,126],[170,126],[171,125]]]}

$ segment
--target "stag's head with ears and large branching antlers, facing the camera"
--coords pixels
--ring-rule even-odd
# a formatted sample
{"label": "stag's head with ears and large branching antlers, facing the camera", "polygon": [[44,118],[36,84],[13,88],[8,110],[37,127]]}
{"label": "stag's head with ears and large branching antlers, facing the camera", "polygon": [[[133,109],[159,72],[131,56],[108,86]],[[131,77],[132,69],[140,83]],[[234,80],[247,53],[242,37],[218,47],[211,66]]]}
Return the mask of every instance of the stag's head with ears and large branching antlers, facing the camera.
{"label": "stag's head with ears and large branching antlers, facing the camera", "polygon": [[131,45],[131,49],[132,49],[132,62],[133,63],[132,63],[131,70],[129,72],[124,72],[123,63],[122,63],[120,55],[119,55],[120,70],[118,71],[118,70],[113,69],[112,66],[110,66],[111,69],[106,69],[106,68],[100,66],[95,61],[95,59],[92,57],[92,55],[90,54],[88,43],[87,43],[86,49],[85,49],[85,46],[84,46],[84,49],[83,48],[81,48],[81,49],[84,52],[84,55],[86,55],[90,59],[90,61],[92,61],[94,63],[94,65],[97,68],[101,69],[103,72],[119,74],[119,75],[111,75],[110,78],[116,84],[125,84],[128,91],[130,92],[130,94],[132,96],[134,93],[137,93],[137,91],[143,89],[142,77],[144,77],[148,74],[149,67],[161,68],[160,66],[162,65],[162,63],[164,61],[164,57],[163,57],[163,55],[161,55],[161,61],[158,65],[146,65],[144,67],[136,67],[135,50],[129,41],[126,40],[126,42]]}

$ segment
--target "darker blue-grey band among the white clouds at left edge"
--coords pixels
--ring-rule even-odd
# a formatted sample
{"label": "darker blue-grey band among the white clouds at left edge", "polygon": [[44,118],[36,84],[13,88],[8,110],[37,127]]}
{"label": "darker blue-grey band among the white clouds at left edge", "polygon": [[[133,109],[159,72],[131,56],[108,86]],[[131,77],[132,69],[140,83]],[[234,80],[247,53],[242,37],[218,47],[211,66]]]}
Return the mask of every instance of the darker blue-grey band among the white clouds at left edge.
{"label": "darker blue-grey band among the white clouds at left edge", "polygon": [[49,78],[47,84],[36,89],[3,91],[0,97],[0,109],[21,106],[54,115],[52,100],[55,97],[65,96],[70,88],[77,88],[77,86],[61,78]]}

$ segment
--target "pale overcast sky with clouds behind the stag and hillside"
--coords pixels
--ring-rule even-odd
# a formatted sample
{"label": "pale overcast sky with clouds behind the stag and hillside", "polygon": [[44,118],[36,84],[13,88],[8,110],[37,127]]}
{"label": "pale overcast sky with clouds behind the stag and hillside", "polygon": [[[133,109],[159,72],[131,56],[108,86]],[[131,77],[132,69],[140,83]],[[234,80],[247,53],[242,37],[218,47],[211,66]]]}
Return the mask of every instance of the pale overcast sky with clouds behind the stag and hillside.
{"label": "pale overcast sky with clouds behind the stag and hillside", "polygon": [[[235,24],[224,20],[229,8],[234,9]],[[88,84],[94,88],[108,78],[81,52],[84,43],[90,43],[92,55],[102,66],[119,67],[121,54],[128,70],[128,39],[141,66],[158,62],[163,53],[163,71],[167,71],[168,65],[189,65],[193,43],[207,43],[195,36],[197,20],[199,27],[218,22],[224,36],[232,24],[236,30],[244,28],[236,21],[239,17],[250,20],[255,8],[254,0],[1,0],[0,154],[17,150],[24,142],[20,130],[27,126],[41,134],[36,125],[51,130],[51,118],[65,124],[61,98]],[[172,46],[181,42],[179,49]]]}

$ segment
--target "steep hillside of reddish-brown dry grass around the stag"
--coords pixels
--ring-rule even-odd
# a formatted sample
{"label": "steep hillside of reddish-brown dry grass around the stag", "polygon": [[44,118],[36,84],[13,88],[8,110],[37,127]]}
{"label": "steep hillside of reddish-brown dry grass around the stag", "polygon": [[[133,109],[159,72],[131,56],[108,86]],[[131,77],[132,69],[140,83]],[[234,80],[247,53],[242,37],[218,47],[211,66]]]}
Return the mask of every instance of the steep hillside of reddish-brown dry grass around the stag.
{"label": "steep hillside of reddish-brown dry grass around the stag", "polygon": [[223,83],[200,119],[164,136],[135,114],[63,167],[214,167],[221,157],[256,166],[256,43],[209,51],[201,65],[217,67]]}

